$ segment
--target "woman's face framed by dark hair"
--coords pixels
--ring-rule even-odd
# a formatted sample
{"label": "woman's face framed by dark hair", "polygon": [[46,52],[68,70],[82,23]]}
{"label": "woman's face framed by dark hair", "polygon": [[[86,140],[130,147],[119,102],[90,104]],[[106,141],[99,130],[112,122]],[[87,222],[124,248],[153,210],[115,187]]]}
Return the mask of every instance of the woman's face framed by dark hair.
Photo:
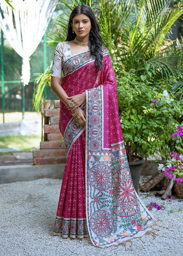
{"label": "woman's face framed by dark hair", "polygon": [[91,30],[90,18],[85,14],[75,15],[72,20],[72,29],[76,33],[77,39],[85,39],[89,41],[89,34]]}

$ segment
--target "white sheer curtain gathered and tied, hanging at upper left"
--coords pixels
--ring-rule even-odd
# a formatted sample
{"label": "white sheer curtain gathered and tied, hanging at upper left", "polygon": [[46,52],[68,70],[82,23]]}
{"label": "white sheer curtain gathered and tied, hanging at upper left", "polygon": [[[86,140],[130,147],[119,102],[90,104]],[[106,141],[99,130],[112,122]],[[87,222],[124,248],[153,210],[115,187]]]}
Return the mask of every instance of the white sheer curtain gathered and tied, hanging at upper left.
{"label": "white sheer curtain gathered and tied, hanging at upper left", "polygon": [[36,50],[58,0],[14,0],[13,10],[0,0],[0,26],[11,47],[23,58],[22,82],[30,80],[29,57]]}

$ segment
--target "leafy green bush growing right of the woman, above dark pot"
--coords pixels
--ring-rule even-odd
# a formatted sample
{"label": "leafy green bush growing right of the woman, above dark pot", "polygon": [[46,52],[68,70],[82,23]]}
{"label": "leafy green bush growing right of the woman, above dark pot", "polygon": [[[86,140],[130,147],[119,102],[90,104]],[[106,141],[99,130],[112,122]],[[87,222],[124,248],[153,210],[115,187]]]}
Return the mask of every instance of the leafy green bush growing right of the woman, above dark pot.
{"label": "leafy green bush growing right of the woman, above dark pot", "polygon": [[135,75],[133,69],[127,73],[119,63],[114,68],[128,160],[131,161],[133,155],[147,158],[154,153],[165,158],[175,148],[170,135],[179,125],[177,120],[182,116],[182,101],[175,100],[171,92],[167,96],[165,82],[163,86],[152,87]]}

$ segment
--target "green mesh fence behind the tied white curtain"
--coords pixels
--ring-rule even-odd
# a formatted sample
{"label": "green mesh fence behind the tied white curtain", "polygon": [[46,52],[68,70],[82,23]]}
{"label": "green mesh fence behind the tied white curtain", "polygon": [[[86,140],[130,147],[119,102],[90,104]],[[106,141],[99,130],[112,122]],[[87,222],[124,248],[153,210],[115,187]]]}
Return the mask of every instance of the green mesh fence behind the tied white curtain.
{"label": "green mesh fence behind the tied white curtain", "polygon": [[[46,45],[46,36],[37,46],[36,51],[30,57],[30,82],[29,85],[22,85],[20,81],[22,70],[22,58],[11,48],[1,31],[1,65],[0,65],[0,109],[3,113],[22,111],[24,118],[25,111],[34,111],[32,96],[34,93],[34,80],[36,73],[43,73],[47,64],[51,63],[53,57],[53,48]],[[57,99],[57,96],[46,89],[47,99]]]}

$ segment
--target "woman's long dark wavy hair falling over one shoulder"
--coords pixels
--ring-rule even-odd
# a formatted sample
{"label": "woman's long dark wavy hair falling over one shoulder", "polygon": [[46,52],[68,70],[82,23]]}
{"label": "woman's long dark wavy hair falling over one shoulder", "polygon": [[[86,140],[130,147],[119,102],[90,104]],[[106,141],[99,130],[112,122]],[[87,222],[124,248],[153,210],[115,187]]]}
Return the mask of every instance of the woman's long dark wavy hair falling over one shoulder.
{"label": "woman's long dark wavy hair falling over one shoulder", "polygon": [[99,34],[99,26],[95,18],[95,15],[92,9],[88,5],[82,4],[82,5],[76,6],[72,11],[69,18],[66,41],[72,41],[76,37],[75,32],[74,33],[72,32],[71,24],[74,16],[79,14],[85,14],[86,16],[88,16],[88,18],[90,18],[92,29],[89,35],[89,47],[90,47],[91,54],[95,56],[95,66],[98,71],[102,69],[102,38],[100,37],[100,34]]}

